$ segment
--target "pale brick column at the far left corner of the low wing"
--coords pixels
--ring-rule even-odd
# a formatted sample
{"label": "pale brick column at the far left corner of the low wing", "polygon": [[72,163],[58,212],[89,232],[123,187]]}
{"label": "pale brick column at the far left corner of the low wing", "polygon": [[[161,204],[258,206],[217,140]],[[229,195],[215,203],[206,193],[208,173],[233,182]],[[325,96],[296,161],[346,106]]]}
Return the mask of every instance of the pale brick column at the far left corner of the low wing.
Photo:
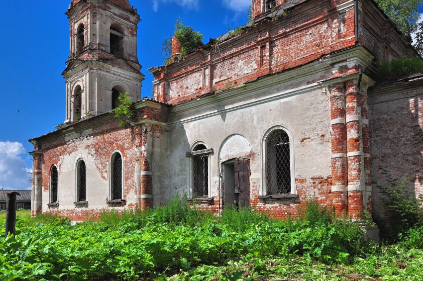
{"label": "pale brick column at the far left corner of the low wing", "polygon": [[32,155],[32,192],[31,192],[31,215],[36,216],[42,213],[42,153],[31,152]]}

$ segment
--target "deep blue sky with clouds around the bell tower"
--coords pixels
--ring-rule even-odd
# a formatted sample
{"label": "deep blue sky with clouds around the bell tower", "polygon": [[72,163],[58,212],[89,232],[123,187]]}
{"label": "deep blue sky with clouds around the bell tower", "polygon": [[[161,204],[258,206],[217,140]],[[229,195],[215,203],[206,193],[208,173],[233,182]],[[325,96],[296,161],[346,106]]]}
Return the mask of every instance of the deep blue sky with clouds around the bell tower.
{"label": "deep blue sky with clouds around the bell tower", "polygon": [[[71,0],[3,1],[0,53],[0,188],[29,188],[33,147],[28,139],[53,131],[65,119],[65,80]],[[178,17],[204,33],[205,42],[247,21],[250,0],[130,0],[142,21],[138,57],[151,95],[148,68],[163,64],[162,42]]]}

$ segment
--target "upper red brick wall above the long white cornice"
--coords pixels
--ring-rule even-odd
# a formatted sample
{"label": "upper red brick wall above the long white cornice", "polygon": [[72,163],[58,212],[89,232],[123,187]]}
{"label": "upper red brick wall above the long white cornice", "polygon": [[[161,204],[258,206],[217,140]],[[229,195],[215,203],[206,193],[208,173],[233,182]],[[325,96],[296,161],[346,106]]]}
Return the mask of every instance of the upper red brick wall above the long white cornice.
{"label": "upper red brick wall above the long white cornice", "polygon": [[[341,23],[340,23],[341,22]],[[172,104],[236,87],[355,45],[354,9],[309,0],[219,44],[153,70],[155,97]],[[356,70],[354,70],[356,71]]]}

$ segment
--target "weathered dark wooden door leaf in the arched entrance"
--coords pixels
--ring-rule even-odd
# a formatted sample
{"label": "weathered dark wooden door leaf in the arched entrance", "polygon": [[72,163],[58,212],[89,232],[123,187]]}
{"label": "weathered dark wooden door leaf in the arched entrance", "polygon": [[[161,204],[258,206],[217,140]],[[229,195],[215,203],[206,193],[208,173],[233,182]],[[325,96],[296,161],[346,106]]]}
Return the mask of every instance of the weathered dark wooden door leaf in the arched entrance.
{"label": "weathered dark wooden door leaf in the arched entrance", "polygon": [[[240,207],[250,206],[250,161],[237,159],[234,163],[235,170],[235,196]],[[238,194],[237,194],[238,193]]]}

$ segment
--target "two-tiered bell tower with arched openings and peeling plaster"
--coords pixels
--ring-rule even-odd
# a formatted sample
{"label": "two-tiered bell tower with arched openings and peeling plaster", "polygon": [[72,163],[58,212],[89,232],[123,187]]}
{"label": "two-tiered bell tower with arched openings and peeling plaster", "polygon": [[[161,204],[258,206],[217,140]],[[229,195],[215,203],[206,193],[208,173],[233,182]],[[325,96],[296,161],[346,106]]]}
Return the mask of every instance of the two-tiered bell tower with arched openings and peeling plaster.
{"label": "two-tiered bell tower with arched openings and peeling plaster", "polygon": [[128,0],[72,0],[66,15],[65,123],[112,110],[120,93],[140,100],[144,75],[137,57],[137,10]]}

